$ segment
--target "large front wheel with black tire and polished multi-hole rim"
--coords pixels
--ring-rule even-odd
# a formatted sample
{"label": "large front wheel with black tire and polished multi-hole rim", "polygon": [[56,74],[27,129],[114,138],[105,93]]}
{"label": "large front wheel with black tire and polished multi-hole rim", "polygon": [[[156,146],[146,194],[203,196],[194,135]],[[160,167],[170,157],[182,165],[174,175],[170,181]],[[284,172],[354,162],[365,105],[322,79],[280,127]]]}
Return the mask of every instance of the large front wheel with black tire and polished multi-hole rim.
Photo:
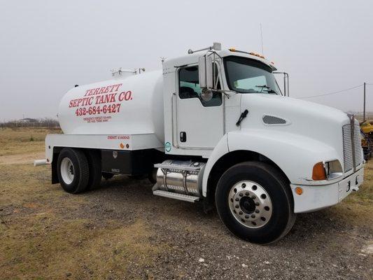
{"label": "large front wheel with black tire and polished multi-hole rim", "polygon": [[285,236],[295,223],[293,205],[286,178],[263,162],[234,165],[216,187],[221,220],[234,235],[253,243],[269,244]]}

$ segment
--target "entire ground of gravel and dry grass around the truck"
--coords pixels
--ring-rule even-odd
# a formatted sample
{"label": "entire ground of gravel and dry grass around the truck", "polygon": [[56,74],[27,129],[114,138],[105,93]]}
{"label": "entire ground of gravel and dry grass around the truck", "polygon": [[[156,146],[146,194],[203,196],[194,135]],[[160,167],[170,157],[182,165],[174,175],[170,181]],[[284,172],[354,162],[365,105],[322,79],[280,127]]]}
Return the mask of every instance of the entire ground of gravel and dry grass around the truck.
{"label": "entire ground of gravel and dry grass around the truck", "polygon": [[259,246],[147,180],[64,193],[31,165],[45,133],[0,130],[0,279],[373,279],[373,160],[358,193]]}

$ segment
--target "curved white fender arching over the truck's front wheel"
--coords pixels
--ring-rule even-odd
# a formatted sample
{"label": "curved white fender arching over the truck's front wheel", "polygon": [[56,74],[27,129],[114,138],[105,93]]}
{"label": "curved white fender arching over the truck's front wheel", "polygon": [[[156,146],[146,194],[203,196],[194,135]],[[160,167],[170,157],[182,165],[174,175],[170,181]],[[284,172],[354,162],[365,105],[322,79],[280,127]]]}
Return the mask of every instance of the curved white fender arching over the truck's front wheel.
{"label": "curved white fender arching over the truck's front wheel", "polygon": [[[206,163],[202,193],[206,196],[207,180],[213,165],[226,153],[253,151],[272,160],[290,183],[297,185],[323,185],[334,181],[313,181],[312,169],[317,162],[339,160],[335,148],[321,141],[289,132],[272,130],[238,130],[228,132],[220,139]],[[338,180],[338,179],[335,179]]]}

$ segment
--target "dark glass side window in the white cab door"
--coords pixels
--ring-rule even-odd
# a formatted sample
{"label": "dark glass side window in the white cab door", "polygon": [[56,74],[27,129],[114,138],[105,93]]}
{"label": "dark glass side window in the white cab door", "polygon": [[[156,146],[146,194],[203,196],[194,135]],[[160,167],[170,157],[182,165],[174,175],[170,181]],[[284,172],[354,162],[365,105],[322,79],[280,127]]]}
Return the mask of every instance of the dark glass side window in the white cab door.
{"label": "dark glass side window in the white cab door", "polygon": [[[218,88],[220,88],[220,85],[218,85]],[[213,98],[208,102],[200,98],[201,92],[201,87],[199,87],[198,66],[180,69],[178,71],[178,96],[181,99],[198,98],[205,107],[220,106],[222,104],[221,92],[214,92]]]}

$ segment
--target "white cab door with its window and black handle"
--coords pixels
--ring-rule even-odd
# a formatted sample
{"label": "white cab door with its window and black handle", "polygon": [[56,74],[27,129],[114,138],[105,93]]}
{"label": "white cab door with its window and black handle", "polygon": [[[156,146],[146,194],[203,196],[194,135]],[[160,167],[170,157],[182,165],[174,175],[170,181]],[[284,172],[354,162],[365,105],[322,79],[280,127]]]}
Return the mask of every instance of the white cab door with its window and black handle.
{"label": "white cab door with its window and black handle", "polygon": [[180,148],[211,149],[223,137],[223,100],[214,92],[208,102],[201,99],[198,66],[178,69],[176,90],[176,141]]}

